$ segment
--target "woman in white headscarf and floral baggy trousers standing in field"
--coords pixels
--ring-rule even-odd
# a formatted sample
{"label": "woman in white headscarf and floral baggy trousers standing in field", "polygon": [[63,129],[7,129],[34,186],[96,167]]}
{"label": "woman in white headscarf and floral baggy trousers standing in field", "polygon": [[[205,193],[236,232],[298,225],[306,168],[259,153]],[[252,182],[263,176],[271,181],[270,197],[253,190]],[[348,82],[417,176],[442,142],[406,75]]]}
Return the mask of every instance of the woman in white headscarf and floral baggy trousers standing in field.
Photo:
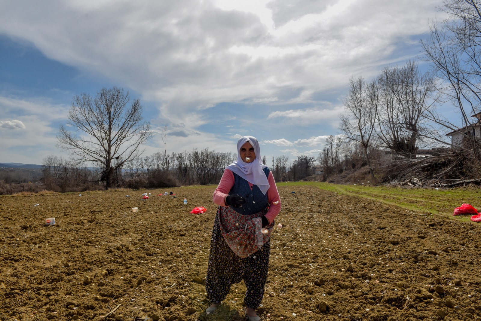
{"label": "woman in white headscarf and floral baggy trousers standing in field", "polygon": [[219,205],[212,232],[206,291],[212,313],[230,290],[244,280],[245,315],[259,321],[255,309],[264,296],[270,234],[281,203],[274,177],[260,159],[253,136],[237,142],[237,160],[228,165],[214,192]]}

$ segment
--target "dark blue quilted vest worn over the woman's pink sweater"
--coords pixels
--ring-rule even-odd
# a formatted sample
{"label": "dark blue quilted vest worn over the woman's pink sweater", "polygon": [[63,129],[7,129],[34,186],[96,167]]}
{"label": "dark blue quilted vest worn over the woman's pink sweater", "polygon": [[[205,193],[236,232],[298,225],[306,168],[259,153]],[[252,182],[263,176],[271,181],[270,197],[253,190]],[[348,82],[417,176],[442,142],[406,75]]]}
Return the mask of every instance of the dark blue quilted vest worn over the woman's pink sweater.
{"label": "dark blue quilted vest worn over the woman's pink sweater", "polygon": [[[269,177],[270,170],[266,167],[262,170],[266,177]],[[246,199],[246,203],[242,204],[240,208],[230,207],[241,215],[252,215],[266,209],[268,199],[267,195],[262,194],[261,190],[257,185],[249,186],[249,182],[243,179],[236,173],[234,174],[234,186],[229,191],[229,195],[239,194],[239,196]],[[267,193],[266,193],[267,194]]]}

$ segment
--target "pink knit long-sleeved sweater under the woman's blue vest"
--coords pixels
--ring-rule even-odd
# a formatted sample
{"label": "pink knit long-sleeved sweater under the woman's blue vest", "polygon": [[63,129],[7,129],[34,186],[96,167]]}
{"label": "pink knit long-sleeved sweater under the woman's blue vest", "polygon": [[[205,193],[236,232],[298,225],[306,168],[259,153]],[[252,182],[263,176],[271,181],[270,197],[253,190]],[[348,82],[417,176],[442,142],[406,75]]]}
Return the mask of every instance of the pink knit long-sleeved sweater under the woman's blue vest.
{"label": "pink knit long-sleeved sweater under the woman's blue vest", "polygon": [[[269,181],[269,189],[267,190],[267,199],[270,204],[269,210],[266,213],[266,218],[269,220],[269,223],[272,223],[276,216],[280,212],[281,208],[281,201],[279,197],[279,192],[277,191],[276,182],[274,182],[274,176],[272,176],[272,172],[269,173],[269,177],[267,177]],[[213,201],[215,204],[219,206],[227,206],[226,205],[226,197],[229,195],[229,191],[234,186],[234,174],[232,171],[226,169],[224,170],[224,174],[220,179],[219,185],[215,189]],[[249,182],[249,186],[251,186],[251,190],[253,184]],[[279,201],[277,204],[274,202]]]}

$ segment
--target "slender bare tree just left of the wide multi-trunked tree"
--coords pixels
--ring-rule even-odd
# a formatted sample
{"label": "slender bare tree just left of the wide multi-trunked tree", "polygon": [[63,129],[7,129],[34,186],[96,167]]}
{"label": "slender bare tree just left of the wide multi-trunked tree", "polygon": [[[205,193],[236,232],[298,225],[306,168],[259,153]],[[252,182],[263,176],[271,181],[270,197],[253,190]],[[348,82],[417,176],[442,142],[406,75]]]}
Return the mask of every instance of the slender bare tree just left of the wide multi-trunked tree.
{"label": "slender bare tree just left of the wide multi-trunked tree", "polygon": [[374,134],[379,98],[378,82],[366,84],[362,77],[349,79],[349,92],[344,99],[344,113],[340,115],[339,126],[348,139],[362,146],[369,175],[373,179],[374,173],[367,150]]}

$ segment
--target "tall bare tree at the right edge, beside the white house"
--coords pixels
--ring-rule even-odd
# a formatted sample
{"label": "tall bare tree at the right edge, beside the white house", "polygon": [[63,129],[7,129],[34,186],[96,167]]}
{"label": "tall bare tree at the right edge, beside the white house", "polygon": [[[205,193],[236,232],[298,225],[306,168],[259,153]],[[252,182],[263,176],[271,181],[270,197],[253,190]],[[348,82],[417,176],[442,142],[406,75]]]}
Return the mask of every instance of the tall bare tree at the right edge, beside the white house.
{"label": "tall bare tree at the right edge, beside the white house", "polygon": [[[421,41],[424,60],[441,80],[439,86],[446,101],[461,114],[461,126],[471,125],[470,115],[481,107],[481,6],[474,0],[448,0],[441,10],[449,14],[442,24],[430,25],[430,38]],[[433,119],[449,131],[465,136],[477,159],[481,158],[477,138],[471,131],[459,131],[452,120]],[[460,148],[462,148],[460,146]]]}

